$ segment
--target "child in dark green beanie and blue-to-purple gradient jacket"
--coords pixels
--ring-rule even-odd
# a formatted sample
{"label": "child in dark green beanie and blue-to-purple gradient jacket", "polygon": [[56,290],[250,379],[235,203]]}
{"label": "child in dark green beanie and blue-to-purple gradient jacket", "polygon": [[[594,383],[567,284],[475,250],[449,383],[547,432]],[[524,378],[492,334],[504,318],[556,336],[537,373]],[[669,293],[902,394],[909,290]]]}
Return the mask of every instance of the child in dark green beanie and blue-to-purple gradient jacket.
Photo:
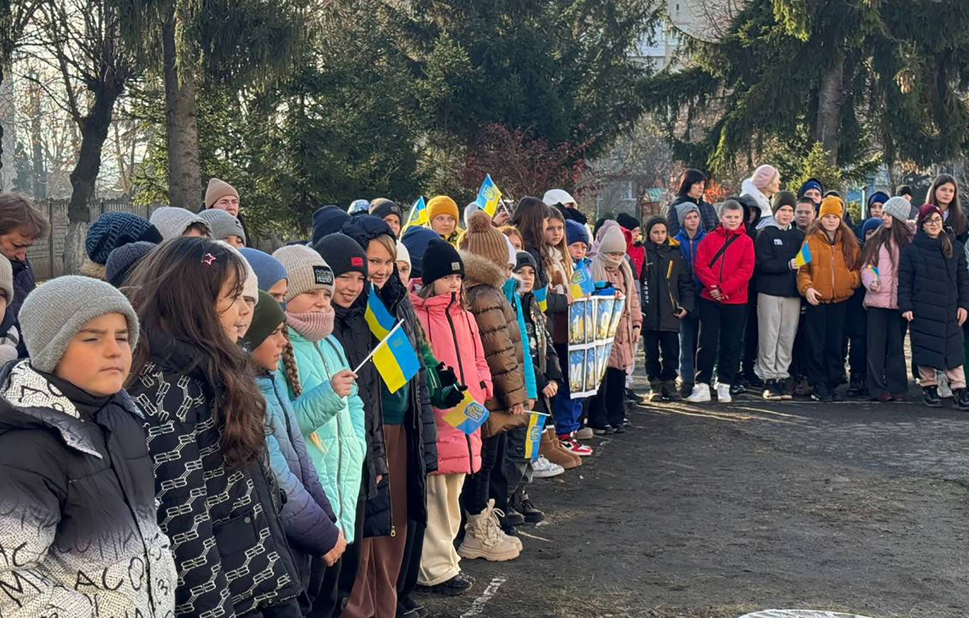
{"label": "child in dark green beanie and blue-to-purple gradient jacket", "polygon": [[[266,448],[269,467],[286,494],[280,518],[286,529],[299,577],[304,588],[310,584],[314,559],[332,567],[347,547],[343,532],[334,522],[336,514],[320,484],[284,381],[275,375],[280,356],[287,347],[286,315],[271,295],[260,292],[252,324],[243,342],[252,354],[256,384],[266,399]],[[309,610],[305,606],[304,611]]]}

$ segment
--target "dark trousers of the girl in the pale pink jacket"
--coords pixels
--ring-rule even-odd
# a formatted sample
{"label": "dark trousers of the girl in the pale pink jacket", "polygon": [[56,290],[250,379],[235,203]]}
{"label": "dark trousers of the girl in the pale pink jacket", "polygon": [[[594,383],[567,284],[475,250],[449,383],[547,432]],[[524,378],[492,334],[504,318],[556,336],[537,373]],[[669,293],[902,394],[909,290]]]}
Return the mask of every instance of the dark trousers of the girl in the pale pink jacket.
{"label": "dark trousers of the girl in the pale pink jacket", "polygon": [[872,396],[908,391],[901,315],[897,309],[868,309],[867,382],[868,393]]}

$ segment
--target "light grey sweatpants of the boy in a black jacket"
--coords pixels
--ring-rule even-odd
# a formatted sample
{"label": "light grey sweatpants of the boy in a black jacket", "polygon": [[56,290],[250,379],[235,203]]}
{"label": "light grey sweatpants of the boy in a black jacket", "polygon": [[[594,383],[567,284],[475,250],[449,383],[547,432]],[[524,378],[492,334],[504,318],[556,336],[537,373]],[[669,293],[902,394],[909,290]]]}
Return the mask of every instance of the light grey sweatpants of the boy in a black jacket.
{"label": "light grey sweatpants of the boy in a black jacket", "polygon": [[800,297],[757,294],[757,368],[762,380],[787,380],[791,366]]}

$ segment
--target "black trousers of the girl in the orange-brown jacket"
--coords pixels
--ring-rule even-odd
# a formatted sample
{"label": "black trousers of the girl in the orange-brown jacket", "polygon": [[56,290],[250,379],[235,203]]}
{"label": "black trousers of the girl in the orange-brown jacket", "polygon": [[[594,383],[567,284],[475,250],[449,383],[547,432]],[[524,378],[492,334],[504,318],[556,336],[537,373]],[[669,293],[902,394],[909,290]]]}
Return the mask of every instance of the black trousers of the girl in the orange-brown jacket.
{"label": "black trousers of the girl in the orange-brown jacket", "polygon": [[844,337],[848,302],[807,305],[804,335],[807,338],[807,381],[811,386],[834,387],[844,372],[841,341]]}

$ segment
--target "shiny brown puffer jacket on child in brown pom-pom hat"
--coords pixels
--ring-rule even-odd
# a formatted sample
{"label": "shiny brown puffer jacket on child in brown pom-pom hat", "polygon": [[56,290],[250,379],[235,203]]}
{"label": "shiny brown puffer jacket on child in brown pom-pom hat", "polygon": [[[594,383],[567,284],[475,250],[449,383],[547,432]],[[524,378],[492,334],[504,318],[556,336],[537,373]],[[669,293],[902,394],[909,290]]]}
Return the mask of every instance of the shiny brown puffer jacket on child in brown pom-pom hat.
{"label": "shiny brown puffer jacket on child in brown pom-pom hat", "polygon": [[515,309],[501,291],[504,274],[485,258],[466,251],[458,253],[464,262],[468,310],[478,323],[494,385],[494,395],[485,401],[489,415],[482,426],[482,438],[487,438],[521,427],[528,418],[508,414],[512,406],[528,401],[523,373],[524,350]]}

